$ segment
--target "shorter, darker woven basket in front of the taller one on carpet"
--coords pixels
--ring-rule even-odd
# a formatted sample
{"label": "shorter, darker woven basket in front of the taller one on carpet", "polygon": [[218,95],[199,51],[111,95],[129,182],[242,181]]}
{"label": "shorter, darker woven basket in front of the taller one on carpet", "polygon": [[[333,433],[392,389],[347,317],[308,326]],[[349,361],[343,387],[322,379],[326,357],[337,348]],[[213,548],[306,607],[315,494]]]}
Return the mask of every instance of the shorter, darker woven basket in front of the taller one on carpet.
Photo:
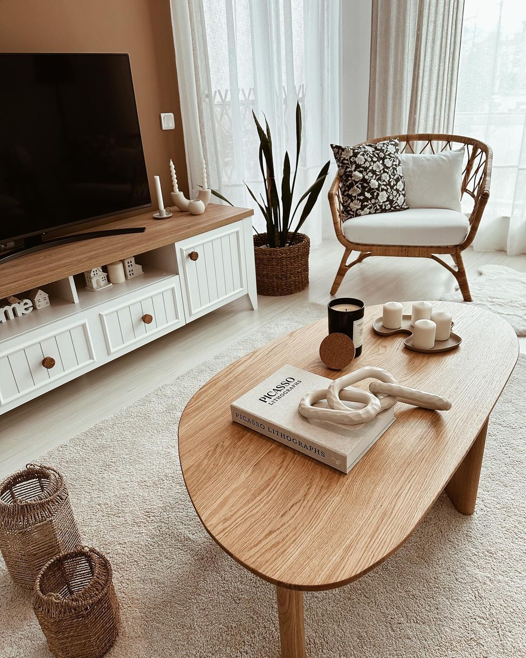
{"label": "shorter, darker woven basket in front of the taller one on carpet", "polygon": [[108,559],[87,547],[57,555],[37,577],[33,609],[53,655],[105,655],[120,626]]}

